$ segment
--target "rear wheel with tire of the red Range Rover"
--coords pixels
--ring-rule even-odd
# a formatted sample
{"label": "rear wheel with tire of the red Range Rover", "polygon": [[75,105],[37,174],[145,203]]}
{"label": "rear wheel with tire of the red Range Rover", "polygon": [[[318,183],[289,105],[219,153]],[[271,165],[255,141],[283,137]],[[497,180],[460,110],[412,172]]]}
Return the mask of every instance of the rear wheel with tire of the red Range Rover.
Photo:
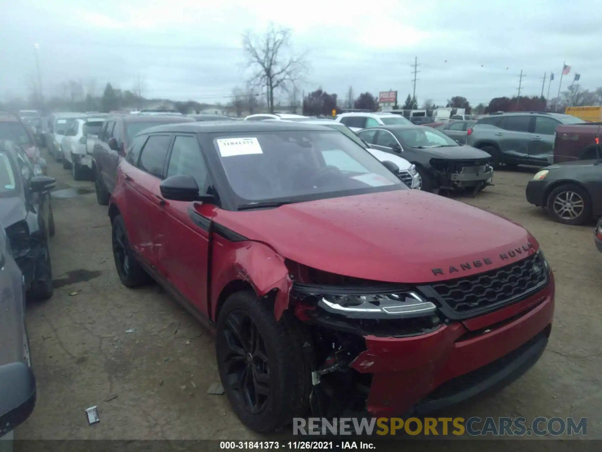
{"label": "rear wheel with tire of the red Range Rover", "polygon": [[122,284],[126,287],[136,287],[150,283],[152,278],[136,260],[129,246],[128,232],[121,215],[113,219],[112,239],[115,267]]}

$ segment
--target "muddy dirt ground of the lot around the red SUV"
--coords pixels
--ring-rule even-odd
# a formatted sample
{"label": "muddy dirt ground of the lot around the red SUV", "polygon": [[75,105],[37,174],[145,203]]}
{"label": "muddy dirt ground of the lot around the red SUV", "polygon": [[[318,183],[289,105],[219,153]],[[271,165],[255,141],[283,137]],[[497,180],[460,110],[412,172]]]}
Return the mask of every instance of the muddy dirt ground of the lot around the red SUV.
{"label": "muddy dirt ground of the lot around the red SUV", "polygon": [[[213,338],[157,285],[120,284],[107,208],[96,203],[93,183],[75,182],[48,161],[57,190],[75,190],[52,201],[55,292],[28,306],[38,399],[16,438],[259,438],[225,396],[206,394],[219,381]],[[495,186],[459,199],[523,224],[541,243],[556,275],[550,344],[520,380],[449,416],[585,416],[588,438],[602,438],[602,255],[593,224],[557,224],[527,203],[532,174],[499,171]],[[90,406],[101,418],[92,426],[84,413]]]}

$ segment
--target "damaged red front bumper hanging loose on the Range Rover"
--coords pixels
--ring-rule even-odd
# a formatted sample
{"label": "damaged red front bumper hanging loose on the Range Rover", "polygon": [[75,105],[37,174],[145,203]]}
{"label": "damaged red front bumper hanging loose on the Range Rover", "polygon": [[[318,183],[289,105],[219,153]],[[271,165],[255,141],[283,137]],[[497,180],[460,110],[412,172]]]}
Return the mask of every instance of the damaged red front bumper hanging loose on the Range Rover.
{"label": "damaged red front bumper hanging loose on the Range Rover", "polygon": [[337,314],[340,308],[324,303],[327,298],[314,298],[321,303],[315,306],[303,303],[306,291],[293,295],[300,300],[297,318],[311,325],[314,336],[311,408],[320,417],[423,414],[503,387],[539,359],[554,311],[551,274],[550,283],[525,300],[463,321],[430,311],[397,319],[374,312],[374,318],[360,319],[357,311]]}

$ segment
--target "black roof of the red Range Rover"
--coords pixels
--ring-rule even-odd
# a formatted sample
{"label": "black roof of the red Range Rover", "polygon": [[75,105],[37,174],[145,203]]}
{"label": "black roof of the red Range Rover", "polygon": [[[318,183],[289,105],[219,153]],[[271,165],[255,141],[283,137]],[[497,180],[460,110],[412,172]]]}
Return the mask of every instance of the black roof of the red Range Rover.
{"label": "black roof of the red Range Rover", "polygon": [[294,130],[324,130],[332,131],[331,128],[306,124],[306,122],[288,121],[201,121],[187,122],[185,124],[163,124],[145,129],[141,133],[154,132],[185,132],[185,133],[240,133],[240,132],[271,132],[271,131],[294,131]]}

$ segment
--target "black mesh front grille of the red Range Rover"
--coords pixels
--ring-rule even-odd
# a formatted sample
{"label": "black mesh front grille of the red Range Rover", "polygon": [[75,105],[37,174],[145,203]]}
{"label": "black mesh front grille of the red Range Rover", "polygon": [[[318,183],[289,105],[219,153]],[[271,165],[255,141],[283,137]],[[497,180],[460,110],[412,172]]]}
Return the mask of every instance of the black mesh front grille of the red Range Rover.
{"label": "black mesh front grille of the red Range Rover", "polygon": [[521,301],[547,281],[544,263],[533,254],[486,273],[433,284],[433,289],[454,313],[469,316],[482,309]]}

